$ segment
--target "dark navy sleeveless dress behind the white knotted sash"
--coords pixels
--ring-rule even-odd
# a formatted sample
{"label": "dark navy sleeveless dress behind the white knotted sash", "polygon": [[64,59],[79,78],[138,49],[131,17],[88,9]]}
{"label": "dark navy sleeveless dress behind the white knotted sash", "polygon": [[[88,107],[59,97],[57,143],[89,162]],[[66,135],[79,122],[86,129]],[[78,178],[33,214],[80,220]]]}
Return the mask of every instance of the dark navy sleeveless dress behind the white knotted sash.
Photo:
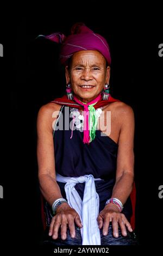
{"label": "dark navy sleeveless dress behind the white knotted sash", "polygon": [[[116,161],[118,144],[100,130],[90,144],[83,143],[83,132],[73,130],[71,107],[62,106],[55,123],[53,138],[55,152],[55,170],[62,176],[83,176],[92,174],[96,192],[99,194],[99,212],[104,209],[106,200],[111,197],[116,178]],[[58,182],[58,181],[57,181]],[[66,199],[65,183],[58,182],[62,197]],[[75,188],[83,199],[85,183],[76,184]],[[130,221],[132,214],[130,198],[124,204],[123,214]]]}

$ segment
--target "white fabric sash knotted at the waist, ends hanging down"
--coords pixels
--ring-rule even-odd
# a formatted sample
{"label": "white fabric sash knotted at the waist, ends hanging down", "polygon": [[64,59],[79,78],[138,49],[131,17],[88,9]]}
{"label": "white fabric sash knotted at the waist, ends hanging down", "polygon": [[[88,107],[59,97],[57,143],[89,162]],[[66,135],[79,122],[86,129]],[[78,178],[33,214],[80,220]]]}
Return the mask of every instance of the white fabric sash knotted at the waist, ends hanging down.
{"label": "white fabric sash knotted at the waist, ends hanging down", "polygon": [[[66,183],[65,192],[67,203],[77,211],[82,221],[83,228],[80,228],[82,245],[101,245],[101,236],[98,227],[97,217],[99,213],[99,196],[96,192],[95,179],[93,175],[79,177],[65,177],[56,174],[57,181]],[[83,202],[76,188],[77,183],[84,183]]]}

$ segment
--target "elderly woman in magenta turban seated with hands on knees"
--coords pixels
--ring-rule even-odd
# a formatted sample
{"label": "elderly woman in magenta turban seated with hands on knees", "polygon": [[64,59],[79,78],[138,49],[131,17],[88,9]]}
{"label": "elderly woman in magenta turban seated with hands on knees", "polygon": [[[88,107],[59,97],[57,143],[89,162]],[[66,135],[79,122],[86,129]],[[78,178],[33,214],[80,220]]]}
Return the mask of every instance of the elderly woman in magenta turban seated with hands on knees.
{"label": "elderly woman in magenta turban seated with hands on knees", "polygon": [[135,245],[130,225],[134,114],[109,93],[106,40],[83,23],[54,33],[67,95],[37,117],[39,181],[52,245]]}

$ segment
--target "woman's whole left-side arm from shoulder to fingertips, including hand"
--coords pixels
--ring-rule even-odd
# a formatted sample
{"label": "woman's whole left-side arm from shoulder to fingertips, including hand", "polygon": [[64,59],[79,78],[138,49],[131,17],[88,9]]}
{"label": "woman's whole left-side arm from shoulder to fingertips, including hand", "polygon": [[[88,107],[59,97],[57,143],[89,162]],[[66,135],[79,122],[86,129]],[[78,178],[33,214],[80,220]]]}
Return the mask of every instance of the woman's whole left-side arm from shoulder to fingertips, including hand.
{"label": "woman's whole left-side arm from shoulder to fingertips, including hand", "polygon": [[[55,175],[53,143],[53,127],[55,121],[57,120],[59,109],[59,105],[48,103],[40,108],[37,117],[37,162],[39,167],[40,190],[43,197],[50,205],[52,205],[56,199],[62,198]],[[74,237],[74,222],[76,222],[78,227],[82,227],[82,223],[77,212],[67,203],[62,203],[60,206],[58,206],[56,212],[57,214],[52,218],[49,235],[52,235],[53,239],[57,239],[58,230],[61,226],[61,238],[65,240],[68,224],[70,234],[72,237]]]}

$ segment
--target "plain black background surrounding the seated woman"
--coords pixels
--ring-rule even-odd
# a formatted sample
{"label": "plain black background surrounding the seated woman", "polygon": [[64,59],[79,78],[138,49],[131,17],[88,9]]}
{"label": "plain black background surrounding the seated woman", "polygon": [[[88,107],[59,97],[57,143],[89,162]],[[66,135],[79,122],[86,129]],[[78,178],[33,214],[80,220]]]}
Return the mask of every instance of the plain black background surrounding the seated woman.
{"label": "plain black background surrounding the seated woman", "polygon": [[[1,18],[1,248],[22,252],[37,248],[42,236],[37,181],[36,117],[39,108],[65,93],[59,46],[39,34],[70,33],[84,22],[109,42],[111,95],[135,113],[136,233],[140,249],[161,248],[162,202],[162,28],[159,8],[108,5],[19,11]],[[156,18],[154,19],[154,13]],[[6,243],[5,243],[6,242]],[[5,255],[5,254],[4,254]]]}

